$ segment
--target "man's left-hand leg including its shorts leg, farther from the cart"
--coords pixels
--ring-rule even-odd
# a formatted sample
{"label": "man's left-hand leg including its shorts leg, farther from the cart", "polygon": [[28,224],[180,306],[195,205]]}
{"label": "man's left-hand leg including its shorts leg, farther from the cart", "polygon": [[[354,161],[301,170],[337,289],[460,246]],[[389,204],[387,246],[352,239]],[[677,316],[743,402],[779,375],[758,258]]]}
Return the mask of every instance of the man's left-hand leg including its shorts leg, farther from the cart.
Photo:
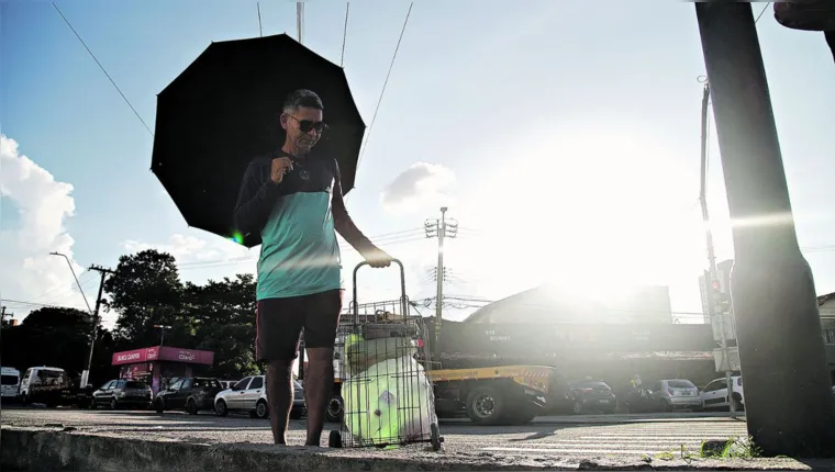
{"label": "man's left-hand leg including its shorts leg, farther from the cart", "polygon": [[256,312],[256,358],[267,361],[267,404],[272,440],[287,445],[287,429],[293,402],[292,364],[299,351],[303,313],[298,299],[258,301]]}

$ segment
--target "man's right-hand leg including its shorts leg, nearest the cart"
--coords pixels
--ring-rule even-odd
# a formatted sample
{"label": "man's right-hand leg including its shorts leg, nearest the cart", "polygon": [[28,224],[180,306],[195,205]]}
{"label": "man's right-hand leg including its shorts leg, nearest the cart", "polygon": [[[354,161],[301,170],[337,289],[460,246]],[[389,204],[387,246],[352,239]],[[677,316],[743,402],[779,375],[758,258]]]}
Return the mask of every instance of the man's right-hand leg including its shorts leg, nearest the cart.
{"label": "man's right-hand leg including its shorts leg, nearest the cart", "polygon": [[310,295],[305,308],[304,344],[310,357],[304,371],[304,402],[308,404],[308,440],[319,446],[327,401],[333,392],[333,346],[342,311],[342,291]]}

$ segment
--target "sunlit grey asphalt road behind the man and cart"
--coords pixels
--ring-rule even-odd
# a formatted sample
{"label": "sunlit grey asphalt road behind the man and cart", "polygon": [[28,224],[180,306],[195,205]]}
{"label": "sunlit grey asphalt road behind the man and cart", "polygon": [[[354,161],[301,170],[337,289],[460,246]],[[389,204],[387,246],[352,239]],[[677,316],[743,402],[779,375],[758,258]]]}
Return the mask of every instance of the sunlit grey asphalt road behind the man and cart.
{"label": "sunlit grey asphalt road behind the man and cart", "polygon": [[[747,436],[743,419],[705,414],[594,415],[543,417],[531,425],[486,427],[468,422],[443,422],[447,453],[485,457],[576,457],[642,459],[682,451],[698,453],[703,440]],[[4,426],[75,427],[78,431],[123,438],[197,443],[270,443],[269,424],[246,416],[216,417],[211,413],[111,412],[3,407]],[[322,446],[327,443],[325,425]],[[291,422],[290,441],[303,443],[304,420]]]}

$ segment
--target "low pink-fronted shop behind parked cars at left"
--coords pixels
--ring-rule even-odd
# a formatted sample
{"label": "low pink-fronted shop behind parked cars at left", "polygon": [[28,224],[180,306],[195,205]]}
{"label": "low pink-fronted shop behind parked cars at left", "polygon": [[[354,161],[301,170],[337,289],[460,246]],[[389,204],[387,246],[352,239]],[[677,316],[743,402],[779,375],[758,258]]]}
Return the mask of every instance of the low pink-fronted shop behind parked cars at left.
{"label": "low pink-fronted shop behind parked cars at left", "polygon": [[153,346],[114,352],[112,364],[121,366],[120,379],[134,379],[151,385],[156,395],[165,379],[191,377],[192,366],[212,366],[214,352],[181,349],[168,346]]}

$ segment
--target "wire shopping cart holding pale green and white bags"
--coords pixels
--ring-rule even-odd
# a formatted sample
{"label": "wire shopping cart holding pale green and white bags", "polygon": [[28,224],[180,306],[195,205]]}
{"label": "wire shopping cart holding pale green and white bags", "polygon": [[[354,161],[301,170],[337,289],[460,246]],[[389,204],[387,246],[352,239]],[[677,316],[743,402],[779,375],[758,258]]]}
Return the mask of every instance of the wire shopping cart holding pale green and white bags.
{"label": "wire shopping cart holding pale green and white bags", "polygon": [[[344,409],[339,429],[329,437],[332,448],[431,442],[441,450],[421,317],[409,315],[403,263],[392,261],[400,268],[401,296],[385,310],[371,305],[359,313],[357,271],[368,262],[354,269],[350,313],[341,323],[335,348]],[[417,361],[419,353],[425,362]]]}

